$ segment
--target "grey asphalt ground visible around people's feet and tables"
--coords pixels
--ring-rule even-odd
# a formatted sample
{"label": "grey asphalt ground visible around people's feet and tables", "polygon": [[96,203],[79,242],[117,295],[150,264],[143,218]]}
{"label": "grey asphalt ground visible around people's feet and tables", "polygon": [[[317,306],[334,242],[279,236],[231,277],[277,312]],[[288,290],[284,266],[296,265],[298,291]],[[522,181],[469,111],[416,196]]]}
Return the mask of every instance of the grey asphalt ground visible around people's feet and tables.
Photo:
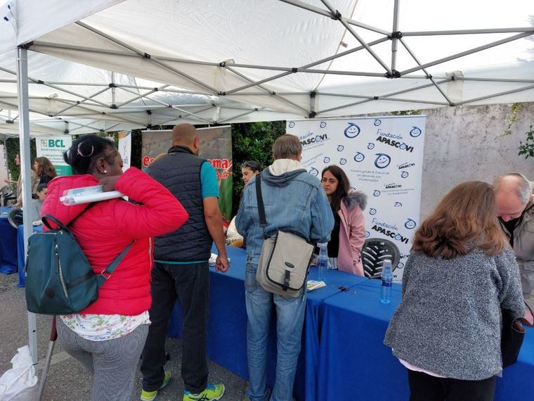
{"label": "grey asphalt ground visible around people's feet and tables", "polygon": [[[11,368],[11,358],[17,348],[27,344],[27,315],[24,298],[24,289],[16,287],[16,274],[4,276],[0,274],[0,374]],[[44,361],[48,350],[50,336],[50,317],[37,318],[37,331],[39,341],[39,360]],[[158,395],[157,400],[181,400],[183,383],[180,380],[181,367],[181,340],[168,340],[167,342],[171,360],[167,362],[167,369],[172,371],[175,380]],[[41,364],[38,365],[39,377]],[[209,362],[209,379],[215,383],[224,383],[226,393],[223,400],[237,401],[245,397],[247,382],[232,374],[223,367]],[[141,375],[137,374],[137,388],[134,400],[141,394]],[[89,373],[76,359],[70,357],[61,349],[60,342],[56,343],[51,368],[46,381],[44,400],[90,400],[91,378]]]}

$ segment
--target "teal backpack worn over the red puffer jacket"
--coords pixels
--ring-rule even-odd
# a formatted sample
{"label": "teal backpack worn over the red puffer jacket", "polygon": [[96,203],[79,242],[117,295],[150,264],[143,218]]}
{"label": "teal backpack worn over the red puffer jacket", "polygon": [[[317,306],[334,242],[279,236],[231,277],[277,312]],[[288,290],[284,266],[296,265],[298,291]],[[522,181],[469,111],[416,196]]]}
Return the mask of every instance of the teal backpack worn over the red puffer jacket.
{"label": "teal backpack worn over the red puffer jacket", "polygon": [[[27,310],[39,314],[72,314],[98,299],[98,288],[110,278],[133,241],[100,274],[94,274],[84,251],[67,227],[56,217],[44,215],[50,229],[30,236],[25,265]],[[49,221],[59,229],[53,229]]]}

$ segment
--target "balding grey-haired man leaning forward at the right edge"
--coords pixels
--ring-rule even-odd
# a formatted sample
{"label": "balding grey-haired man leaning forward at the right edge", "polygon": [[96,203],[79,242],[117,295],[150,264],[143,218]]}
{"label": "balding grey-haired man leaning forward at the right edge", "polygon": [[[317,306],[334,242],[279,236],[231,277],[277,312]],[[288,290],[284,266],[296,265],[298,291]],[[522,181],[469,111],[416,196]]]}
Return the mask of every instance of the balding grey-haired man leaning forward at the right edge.
{"label": "balding grey-haired man leaning forward at the right edge", "polygon": [[514,249],[523,296],[534,287],[534,193],[533,183],[517,172],[495,179],[495,212]]}

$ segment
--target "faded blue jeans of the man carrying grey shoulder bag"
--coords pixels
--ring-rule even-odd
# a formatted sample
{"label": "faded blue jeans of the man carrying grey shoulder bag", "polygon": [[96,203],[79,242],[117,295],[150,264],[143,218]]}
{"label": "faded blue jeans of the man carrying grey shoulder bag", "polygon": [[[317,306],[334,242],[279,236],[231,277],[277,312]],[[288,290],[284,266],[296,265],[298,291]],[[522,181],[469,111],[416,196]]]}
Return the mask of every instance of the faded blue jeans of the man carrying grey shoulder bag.
{"label": "faded blue jeans of the man carrying grey shoulder bag", "polygon": [[278,357],[271,401],[292,401],[297,358],[301,348],[302,324],[306,310],[304,288],[296,298],[269,293],[256,281],[257,265],[247,262],[245,302],[247,305],[247,356],[251,401],[268,401],[267,343],[273,304],[276,309]]}

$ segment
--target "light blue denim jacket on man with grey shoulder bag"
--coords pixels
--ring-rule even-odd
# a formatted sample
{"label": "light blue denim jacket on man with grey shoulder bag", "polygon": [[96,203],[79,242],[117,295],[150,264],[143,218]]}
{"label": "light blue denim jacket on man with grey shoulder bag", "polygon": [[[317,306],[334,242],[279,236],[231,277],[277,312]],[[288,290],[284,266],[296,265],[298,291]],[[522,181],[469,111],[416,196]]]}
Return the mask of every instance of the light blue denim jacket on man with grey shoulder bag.
{"label": "light blue denim jacket on man with grey shoulder bag", "polygon": [[[261,173],[261,194],[268,236],[274,236],[276,231],[281,230],[300,235],[313,243],[330,240],[334,228],[330,203],[317,177],[308,174],[304,167],[280,175],[273,174],[267,167]],[[263,229],[259,224],[256,177],[243,191],[235,224],[237,231],[246,239],[247,260],[258,264]]]}

